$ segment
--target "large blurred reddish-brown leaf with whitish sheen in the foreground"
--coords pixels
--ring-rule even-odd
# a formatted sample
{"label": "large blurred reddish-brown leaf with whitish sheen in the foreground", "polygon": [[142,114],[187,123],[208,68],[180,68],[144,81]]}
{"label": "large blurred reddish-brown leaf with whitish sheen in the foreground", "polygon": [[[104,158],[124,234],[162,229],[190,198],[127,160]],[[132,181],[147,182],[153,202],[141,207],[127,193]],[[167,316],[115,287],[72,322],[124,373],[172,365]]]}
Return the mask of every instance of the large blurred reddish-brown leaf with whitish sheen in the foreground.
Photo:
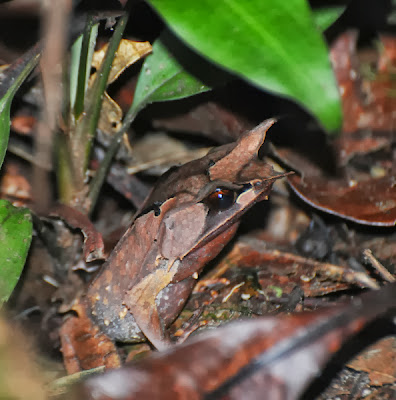
{"label": "large blurred reddish-brown leaf with whitish sheen in the foreground", "polygon": [[89,378],[75,398],[296,399],[347,338],[395,306],[395,287],[312,313],[231,323]]}

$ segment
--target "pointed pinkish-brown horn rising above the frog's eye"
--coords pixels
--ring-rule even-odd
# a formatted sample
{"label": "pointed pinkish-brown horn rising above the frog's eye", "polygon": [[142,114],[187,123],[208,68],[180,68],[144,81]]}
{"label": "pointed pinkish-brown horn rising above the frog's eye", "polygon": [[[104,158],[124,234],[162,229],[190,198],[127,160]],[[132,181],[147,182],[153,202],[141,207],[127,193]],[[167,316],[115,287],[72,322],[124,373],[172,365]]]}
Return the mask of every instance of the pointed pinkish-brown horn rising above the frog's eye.
{"label": "pointed pinkish-brown horn rising above the frog's eye", "polygon": [[229,154],[209,168],[211,180],[221,179],[225,171],[227,171],[226,175],[230,180],[237,177],[246,164],[257,158],[257,153],[264,143],[266,133],[275,122],[275,118],[267,119],[251,131],[243,134]]}

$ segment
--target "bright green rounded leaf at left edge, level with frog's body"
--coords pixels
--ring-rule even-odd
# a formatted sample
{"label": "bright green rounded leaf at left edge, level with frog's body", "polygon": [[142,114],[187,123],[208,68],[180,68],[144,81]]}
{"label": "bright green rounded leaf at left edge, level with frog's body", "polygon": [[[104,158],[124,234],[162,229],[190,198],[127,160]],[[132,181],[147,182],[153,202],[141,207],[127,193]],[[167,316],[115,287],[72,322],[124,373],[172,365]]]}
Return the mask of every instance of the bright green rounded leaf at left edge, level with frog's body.
{"label": "bright green rounded leaf at left edge, level with frog's body", "polygon": [[21,276],[31,239],[29,210],[0,200],[0,305],[8,300]]}

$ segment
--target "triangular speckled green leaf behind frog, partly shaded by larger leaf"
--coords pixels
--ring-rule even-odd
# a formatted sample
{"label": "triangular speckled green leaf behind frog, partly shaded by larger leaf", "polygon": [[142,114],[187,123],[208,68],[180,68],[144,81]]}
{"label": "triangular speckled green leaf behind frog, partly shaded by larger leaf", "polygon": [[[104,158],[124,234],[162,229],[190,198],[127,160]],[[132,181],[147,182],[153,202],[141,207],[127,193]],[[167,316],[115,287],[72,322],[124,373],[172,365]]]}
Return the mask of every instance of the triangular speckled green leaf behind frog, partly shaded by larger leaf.
{"label": "triangular speckled green leaf behind frog, partly shaded by larger leaf", "polygon": [[149,103],[178,100],[208,90],[211,88],[190,75],[159,39],[144,61],[132,109],[136,113]]}

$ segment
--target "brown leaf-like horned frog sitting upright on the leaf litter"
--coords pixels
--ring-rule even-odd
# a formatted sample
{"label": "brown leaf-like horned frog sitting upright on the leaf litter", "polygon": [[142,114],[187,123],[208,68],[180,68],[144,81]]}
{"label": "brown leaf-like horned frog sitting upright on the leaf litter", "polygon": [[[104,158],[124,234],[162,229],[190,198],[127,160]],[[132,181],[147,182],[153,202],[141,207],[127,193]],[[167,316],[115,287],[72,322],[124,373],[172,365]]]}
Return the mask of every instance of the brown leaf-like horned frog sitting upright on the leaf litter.
{"label": "brown leaf-like horned frog sitting upright on the leaf litter", "polygon": [[173,343],[168,327],[200,272],[235,235],[242,215],[285,176],[258,152],[275,119],[234,143],[166,172],[60,328],[73,373],[121,359],[116,343]]}

